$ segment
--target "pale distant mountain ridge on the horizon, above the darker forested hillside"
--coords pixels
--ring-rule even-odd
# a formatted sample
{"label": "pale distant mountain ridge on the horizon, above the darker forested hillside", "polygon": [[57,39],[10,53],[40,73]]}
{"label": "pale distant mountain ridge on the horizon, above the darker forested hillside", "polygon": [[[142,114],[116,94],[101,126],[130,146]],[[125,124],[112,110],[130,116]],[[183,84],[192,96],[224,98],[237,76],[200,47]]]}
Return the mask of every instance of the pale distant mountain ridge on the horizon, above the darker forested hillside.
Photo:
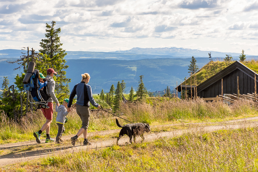
{"label": "pale distant mountain ridge on the horizon, above the darker forested hillside", "polygon": [[[4,49],[0,50],[0,58],[19,58],[25,50]],[[161,59],[161,58],[190,58],[194,56],[209,57],[211,52],[212,59],[225,58],[226,54],[238,57],[240,53],[201,51],[187,48],[132,48],[125,51],[115,52],[89,52],[89,51],[66,51],[65,59],[117,59],[117,60],[140,60],[140,59]],[[248,58],[258,58],[258,56],[246,55]]]}

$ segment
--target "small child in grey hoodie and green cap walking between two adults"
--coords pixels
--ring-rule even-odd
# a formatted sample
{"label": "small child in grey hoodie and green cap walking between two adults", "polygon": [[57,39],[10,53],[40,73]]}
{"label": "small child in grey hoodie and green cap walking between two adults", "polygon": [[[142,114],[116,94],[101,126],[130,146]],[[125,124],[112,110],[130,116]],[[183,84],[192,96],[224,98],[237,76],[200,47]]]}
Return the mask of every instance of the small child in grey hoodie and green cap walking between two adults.
{"label": "small child in grey hoodie and green cap walking between two adults", "polygon": [[64,123],[66,121],[66,116],[70,112],[70,109],[67,111],[67,103],[69,99],[63,100],[63,105],[57,106],[56,105],[56,124],[58,125],[58,132],[56,135],[56,143],[59,143],[62,137],[63,132],[65,131]]}

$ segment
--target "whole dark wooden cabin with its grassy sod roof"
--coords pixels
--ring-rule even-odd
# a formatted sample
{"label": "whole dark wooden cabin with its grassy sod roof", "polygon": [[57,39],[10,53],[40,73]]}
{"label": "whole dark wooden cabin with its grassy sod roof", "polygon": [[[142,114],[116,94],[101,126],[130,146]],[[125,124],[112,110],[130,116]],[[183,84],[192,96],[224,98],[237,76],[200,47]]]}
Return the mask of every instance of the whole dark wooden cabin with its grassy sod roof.
{"label": "whole dark wooden cabin with its grassy sod roof", "polygon": [[[196,86],[194,85],[194,76],[192,76],[192,86],[189,84],[191,77],[189,77],[185,82],[182,83],[177,87],[178,91],[181,92],[181,88],[184,91],[185,89],[188,90],[187,94],[190,97],[190,90],[192,89],[192,96],[194,95],[194,90],[197,89],[197,96],[200,98],[212,98],[219,95],[225,94],[247,94],[247,93],[255,93],[255,85],[254,82],[256,80],[256,93],[258,93],[258,74],[256,70],[258,70],[258,62],[254,60],[249,62],[224,62],[226,66],[223,66],[223,69],[220,70],[214,68],[214,70],[220,70],[219,72],[215,72],[216,74],[205,76],[205,72],[207,73],[208,68],[205,69],[205,66],[202,67],[196,75]],[[220,62],[222,63],[222,62]],[[213,70],[212,64],[210,65],[210,70]],[[228,66],[227,66],[228,65]],[[215,65],[214,65],[215,66]],[[247,66],[252,67],[252,69],[248,68]],[[202,71],[205,71],[202,73]],[[212,72],[212,71],[210,71]],[[206,78],[205,78],[206,77]],[[204,79],[203,79],[204,78]],[[223,92],[222,92],[223,87]]]}

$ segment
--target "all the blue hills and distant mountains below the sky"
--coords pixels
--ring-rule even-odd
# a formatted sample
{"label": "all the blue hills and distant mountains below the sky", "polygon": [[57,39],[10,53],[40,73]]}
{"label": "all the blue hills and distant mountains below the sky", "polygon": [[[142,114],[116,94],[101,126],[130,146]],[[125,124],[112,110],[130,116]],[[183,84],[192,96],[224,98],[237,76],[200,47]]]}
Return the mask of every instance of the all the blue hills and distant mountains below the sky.
{"label": "all the blue hills and distant mountains below the sky", "polygon": [[[8,64],[6,61],[19,59],[26,51],[5,49],[0,50],[0,82],[4,76],[8,76],[10,85],[14,78],[22,71],[13,70],[19,67],[18,64]],[[209,62],[208,51],[183,49],[183,48],[133,48],[126,51],[116,52],[85,52],[66,51],[65,56],[66,77],[71,78],[70,89],[81,80],[82,73],[90,73],[90,85],[93,93],[100,93],[101,89],[108,92],[110,86],[124,80],[127,83],[126,91],[131,86],[137,89],[139,76],[144,75],[144,84],[148,91],[160,91],[170,86],[172,89],[189,76],[188,65],[191,57],[197,60],[199,68]],[[211,52],[214,61],[226,57],[226,54],[233,56],[233,60],[239,60],[240,53]],[[247,59],[258,59],[258,56],[246,55]]]}

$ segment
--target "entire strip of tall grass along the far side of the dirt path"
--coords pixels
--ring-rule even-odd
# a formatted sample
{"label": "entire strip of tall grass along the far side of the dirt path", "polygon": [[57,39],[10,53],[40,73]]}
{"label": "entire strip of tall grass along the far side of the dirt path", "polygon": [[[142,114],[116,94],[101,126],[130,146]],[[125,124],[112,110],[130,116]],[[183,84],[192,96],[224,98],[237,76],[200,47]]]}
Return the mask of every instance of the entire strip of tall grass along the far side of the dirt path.
{"label": "entire strip of tall grass along the far side of the dirt path", "polygon": [[[120,111],[123,118],[134,123],[142,122],[151,125],[169,123],[190,123],[190,122],[216,122],[229,119],[237,119],[249,116],[257,116],[256,106],[252,106],[248,100],[237,101],[232,106],[222,102],[205,103],[202,99],[186,101],[174,99],[160,101],[158,98],[148,98],[147,103],[126,103],[121,104]],[[81,120],[76,111],[68,114],[68,122],[64,125],[64,135],[73,135],[81,128]],[[19,123],[6,120],[2,114],[0,117],[0,144],[13,143],[26,140],[35,140],[33,133],[38,131],[45,123],[42,112],[27,114]],[[56,113],[53,114],[53,121],[50,128],[50,136],[55,137],[58,126],[55,123]],[[119,120],[124,125],[128,122]],[[115,117],[104,111],[91,112],[88,132],[119,129]],[[42,133],[46,137],[46,132]]]}

